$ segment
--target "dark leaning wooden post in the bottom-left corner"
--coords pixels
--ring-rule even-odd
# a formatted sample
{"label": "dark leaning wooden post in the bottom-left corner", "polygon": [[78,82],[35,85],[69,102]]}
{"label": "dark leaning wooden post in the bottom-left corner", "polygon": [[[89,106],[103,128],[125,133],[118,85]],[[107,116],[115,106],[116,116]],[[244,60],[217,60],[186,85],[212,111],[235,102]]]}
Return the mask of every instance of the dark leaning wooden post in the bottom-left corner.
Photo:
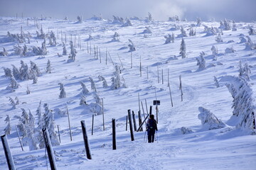
{"label": "dark leaning wooden post in the bottom-left corner", "polygon": [[6,135],[1,136],[1,141],[4,147],[4,154],[6,155],[6,161],[7,161],[9,170],[15,170],[14,159],[11,155],[11,150],[10,150]]}

